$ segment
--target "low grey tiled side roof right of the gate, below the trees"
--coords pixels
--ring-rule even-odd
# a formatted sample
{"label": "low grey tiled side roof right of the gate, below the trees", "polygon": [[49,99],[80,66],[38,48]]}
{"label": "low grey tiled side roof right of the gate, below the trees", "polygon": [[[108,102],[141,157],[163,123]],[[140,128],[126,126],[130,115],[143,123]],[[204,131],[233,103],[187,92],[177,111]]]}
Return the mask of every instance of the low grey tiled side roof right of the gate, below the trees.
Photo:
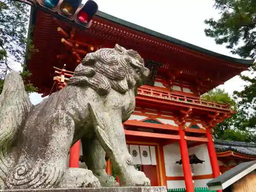
{"label": "low grey tiled side roof right of the gate, below the trees", "polygon": [[215,139],[215,149],[216,152],[232,151],[243,155],[256,156],[256,143]]}

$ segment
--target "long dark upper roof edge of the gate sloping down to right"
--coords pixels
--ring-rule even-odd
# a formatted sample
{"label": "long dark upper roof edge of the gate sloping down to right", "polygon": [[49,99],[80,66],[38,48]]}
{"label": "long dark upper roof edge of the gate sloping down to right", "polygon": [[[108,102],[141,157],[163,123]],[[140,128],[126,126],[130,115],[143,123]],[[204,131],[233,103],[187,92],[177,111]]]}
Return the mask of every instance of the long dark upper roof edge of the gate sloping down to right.
{"label": "long dark upper roof edge of the gate sloping down to right", "polygon": [[226,56],[226,55],[222,55],[222,54],[219,54],[219,53],[216,53],[216,52],[213,52],[213,51],[209,51],[207,49],[189,44],[188,42],[185,42],[185,41],[182,41],[182,40],[179,40],[179,39],[176,39],[176,38],[158,33],[156,31],[138,26],[136,24],[127,22],[126,20],[114,17],[112,15],[106,14],[106,13],[101,12],[101,11],[98,11],[96,15],[98,17],[103,18],[103,19],[110,20],[111,22],[116,23],[118,25],[122,25],[122,26],[128,27],[130,29],[133,29],[133,30],[136,30],[136,31],[139,31],[139,32],[142,32],[142,33],[146,33],[148,35],[166,40],[166,41],[171,42],[173,44],[176,44],[176,45],[179,45],[179,46],[182,46],[182,47],[194,50],[194,51],[201,52],[203,54],[206,54],[206,55],[209,55],[209,56],[212,56],[212,57],[217,57],[217,58],[229,61],[229,62],[239,63],[239,64],[246,65],[246,66],[251,66],[254,62],[253,59],[239,59],[239,58],[234,58],[234,57],[229,57],[229,56]]}

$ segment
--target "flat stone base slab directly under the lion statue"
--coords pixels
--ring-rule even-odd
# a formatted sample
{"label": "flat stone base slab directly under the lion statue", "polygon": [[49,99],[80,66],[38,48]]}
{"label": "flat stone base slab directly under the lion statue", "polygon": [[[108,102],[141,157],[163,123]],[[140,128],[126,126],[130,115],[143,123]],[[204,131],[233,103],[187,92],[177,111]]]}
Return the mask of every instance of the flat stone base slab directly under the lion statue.
{"label": "flat stone base slab directly under the lion statue", "polygon": [[100,188],[51,188],[51,189],[15,189],[0,192],[167,192],[165,186],[159,187],[100,187]]}

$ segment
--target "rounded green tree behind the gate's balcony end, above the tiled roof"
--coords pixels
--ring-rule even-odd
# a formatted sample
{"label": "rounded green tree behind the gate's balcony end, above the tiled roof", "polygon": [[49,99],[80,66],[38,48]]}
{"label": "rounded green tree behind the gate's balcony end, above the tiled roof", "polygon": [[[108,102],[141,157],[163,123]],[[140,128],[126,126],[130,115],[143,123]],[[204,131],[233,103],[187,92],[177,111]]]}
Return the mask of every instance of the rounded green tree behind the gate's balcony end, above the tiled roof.
{"label": "rounded green tree behind the gate's balcony end, above the tiled roof", "polygon": [[230,140],[230,141],[244,141],[252,142],[254,140],[253,134],[247,127],[247,119],[243,112],[237,107],[237,103],[228,93],[222,89],[214,89],[202,95],[203,99],[215,102],[229,104],[230,108],[237,111],[230,118],[225,119],[222,123],[218,123],[214,129],[214,138]]}

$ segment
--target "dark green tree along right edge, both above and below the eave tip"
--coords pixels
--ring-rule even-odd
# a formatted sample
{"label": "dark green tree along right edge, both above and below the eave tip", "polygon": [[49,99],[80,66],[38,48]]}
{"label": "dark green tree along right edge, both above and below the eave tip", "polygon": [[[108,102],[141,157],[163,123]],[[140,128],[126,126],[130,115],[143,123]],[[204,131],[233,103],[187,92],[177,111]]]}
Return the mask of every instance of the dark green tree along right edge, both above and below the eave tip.
{"label": "dark green tree along right edge, both above and below the eave tip", "polygon": [[[231,53],[242,58],[256,57],[256,1],[255,0],[215,0],[219,19],[206,19],[205,35],[215,38],[216,44],[225,44]],[[238,100],[239,117],[242,118],[240,130],[250,136],[256,135],[256,66],[249,68],[251,77],[241,75],[246,86],[241,92],[234,92]],[[240,121],[238,119],[237,121]],[[238,126],[237,126],[238,127]]]}

